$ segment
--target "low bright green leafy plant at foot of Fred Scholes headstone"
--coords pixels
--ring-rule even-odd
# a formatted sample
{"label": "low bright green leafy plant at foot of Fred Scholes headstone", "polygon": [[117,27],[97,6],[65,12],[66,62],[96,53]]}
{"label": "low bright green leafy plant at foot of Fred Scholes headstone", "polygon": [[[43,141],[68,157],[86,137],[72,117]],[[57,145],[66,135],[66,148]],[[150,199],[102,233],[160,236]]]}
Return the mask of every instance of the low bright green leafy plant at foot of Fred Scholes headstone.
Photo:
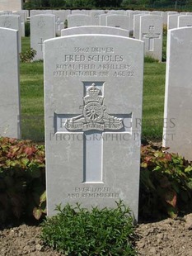
{"label": "low bright green leafy plant at foot of Fred Scholes headstone", "polygon": [[41,239],[65,255],[136,255],[131,211],[122,201],[116,204],[91,211],[79,204],[57,206],[58,215],[42,223]]}

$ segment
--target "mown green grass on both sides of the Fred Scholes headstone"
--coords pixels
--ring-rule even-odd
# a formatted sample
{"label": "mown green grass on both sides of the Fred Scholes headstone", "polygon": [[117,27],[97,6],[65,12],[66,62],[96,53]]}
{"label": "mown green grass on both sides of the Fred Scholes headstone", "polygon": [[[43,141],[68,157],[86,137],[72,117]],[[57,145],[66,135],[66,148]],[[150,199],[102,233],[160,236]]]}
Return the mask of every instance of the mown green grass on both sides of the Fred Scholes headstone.
{"label": "mown green grass on both sides of the Fred Scholes headstone", "polygon": [[[22,38],[22,52],[30,38]],[[22,139],[44,141],[43,62],[21,63]],[[146,140],[162,140],[165,63],[145,63],[143,83],[143,132]]]}

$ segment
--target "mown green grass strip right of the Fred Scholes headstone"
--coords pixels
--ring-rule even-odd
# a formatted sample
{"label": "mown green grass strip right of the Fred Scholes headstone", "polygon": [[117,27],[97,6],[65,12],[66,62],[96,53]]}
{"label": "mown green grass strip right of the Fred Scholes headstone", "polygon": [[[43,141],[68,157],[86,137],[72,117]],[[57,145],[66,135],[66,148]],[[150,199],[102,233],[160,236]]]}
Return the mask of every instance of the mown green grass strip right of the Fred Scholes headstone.
{"label": "mown green grass strip right of the Fred Scholes headstone", "polygon": [[144,65],[142,137],[146,140],[162,140],[165,73],[165,63]]}

